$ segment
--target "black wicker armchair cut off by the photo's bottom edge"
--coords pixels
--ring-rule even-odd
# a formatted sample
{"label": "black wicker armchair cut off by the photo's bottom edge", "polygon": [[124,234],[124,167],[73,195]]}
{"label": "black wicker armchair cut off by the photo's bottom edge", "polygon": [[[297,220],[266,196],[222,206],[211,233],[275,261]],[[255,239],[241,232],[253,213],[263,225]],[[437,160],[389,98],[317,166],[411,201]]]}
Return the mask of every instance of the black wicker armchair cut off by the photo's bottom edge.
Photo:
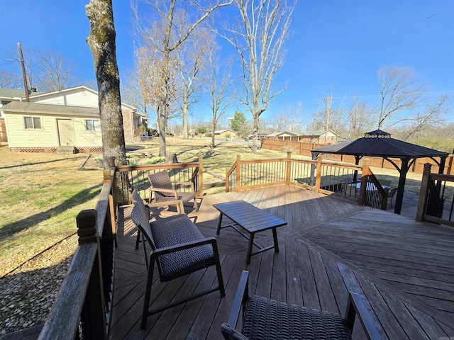
{"label": "black wicker armchair cut off by the photo's bottom edge", "polygon": [[[243,307],[243,329],[235,328]],[[289,305],[258,295],[248,295],[248,271],[243,271],[228,323],[221,326],[226,340],[352,339],[358,313],[368,339],[382,339],[360,295],[349,293],[345,319],[322,310]]]}

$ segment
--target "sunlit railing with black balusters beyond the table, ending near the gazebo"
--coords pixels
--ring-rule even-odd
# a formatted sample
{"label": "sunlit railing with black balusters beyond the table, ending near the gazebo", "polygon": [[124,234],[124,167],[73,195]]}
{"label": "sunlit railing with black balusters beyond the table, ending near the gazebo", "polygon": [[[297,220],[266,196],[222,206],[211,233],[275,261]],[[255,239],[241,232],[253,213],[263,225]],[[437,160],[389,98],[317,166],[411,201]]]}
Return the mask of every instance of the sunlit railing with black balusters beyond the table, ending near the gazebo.
{"label": "sunlit railing with black balusters beyond the table, ending near the gazebo", "polygon": [[[316,192],[341,196],[359,204],[386,210],[387,191],[372,174],[367,159],[362,166],[323,160],[284,159],[242,161],[226,171],[226,192],[261,186],[293,184]],[[367,190],[373,187],[374,190]]]}

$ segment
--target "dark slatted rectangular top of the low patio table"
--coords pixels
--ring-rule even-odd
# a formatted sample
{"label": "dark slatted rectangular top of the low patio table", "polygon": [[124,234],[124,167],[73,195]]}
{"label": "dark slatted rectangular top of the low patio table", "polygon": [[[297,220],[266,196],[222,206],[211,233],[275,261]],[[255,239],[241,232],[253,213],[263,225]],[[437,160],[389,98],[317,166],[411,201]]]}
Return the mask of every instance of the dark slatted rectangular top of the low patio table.
{"label": "dark slatted rectangular top of the low patio table", "polygon": [[271,215],[244,200],[217,203],[213,206],[248,232],[260,232],[287,225],[287,222],[279,217]]}

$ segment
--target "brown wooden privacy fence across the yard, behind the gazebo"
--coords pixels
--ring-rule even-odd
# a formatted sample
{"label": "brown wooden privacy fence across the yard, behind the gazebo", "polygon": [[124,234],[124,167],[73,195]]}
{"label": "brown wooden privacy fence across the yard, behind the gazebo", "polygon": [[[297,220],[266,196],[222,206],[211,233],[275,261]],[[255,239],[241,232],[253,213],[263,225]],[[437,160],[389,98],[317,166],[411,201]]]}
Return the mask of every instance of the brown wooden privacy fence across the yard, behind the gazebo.
{"label": "brown wooden privacy fence across the yard, behind the gazebo", "polygon": [[[318,149],[319,147],[325,147],[326,145],[320,145],[316,143],[301,143],[301,142],[291,142],[288,140],[262,140],[262,148],[270,149],[275,151],[281,151],[287,147],[292,149],[293,153],[301,154],[304,156],[311,157],[311,150]],[[325,159],[332,160],[334,162],[346,162],[355,164],[355,157],[348,154],[324,154]],[[369,166],[377,166],[378,168],[383,169],[396,169],[391,163],[382,157],[368,157]],[[399,158],[392,158],[392,162],[401,166],[401,160]],[[438,164],[436,164],[431,158],[419,158],[416,159],[416,162],[411,165],[409,171],[416,174],[422,174],[424,164],[430,163],[433,166],[433,172],[438,171]],[[360,162],[362,164],[362,161]],[[454,154],[450,154],[446,158],[444,174],[454,175]]]}

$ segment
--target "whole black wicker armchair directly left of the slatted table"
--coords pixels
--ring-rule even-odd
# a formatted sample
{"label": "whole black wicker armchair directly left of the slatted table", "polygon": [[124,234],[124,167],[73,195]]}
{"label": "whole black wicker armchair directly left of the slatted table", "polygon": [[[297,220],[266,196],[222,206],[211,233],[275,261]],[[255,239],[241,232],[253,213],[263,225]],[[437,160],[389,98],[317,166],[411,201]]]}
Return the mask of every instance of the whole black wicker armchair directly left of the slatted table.
{"label": "whole black wicker armchair directly left of the slatted table", "polygon": [[[224,297],[226,293],[223,285],[216,239],[214,237],[204,237],[194,223],[189,220],[189,217],[184,214],[173,215],[150,222],[148,208],[143,203],[137,191],[133,191],[133,201],[135,203],[131,217],[143,237],[143,251],[148,269],[140,328],[144,329],[147,326],[149,315],[162,312],[163,310],[175,307],[197,297],[216,290],[219,290],[221,297]],[[177,203],[182,204],[181,201],[177,201]],[[145,239],[151,247],[150,263],[148,263]],[[138,242],[136,242],[135,249],[138,249]],[[165,307],[149,310],[155,263],[157,264],[161,282],[167,282],[193,273],[194,271],[199,271],[199,269],[208,268],[209,266],[216,266],[218,286],[177,302],[172,302]]]}

